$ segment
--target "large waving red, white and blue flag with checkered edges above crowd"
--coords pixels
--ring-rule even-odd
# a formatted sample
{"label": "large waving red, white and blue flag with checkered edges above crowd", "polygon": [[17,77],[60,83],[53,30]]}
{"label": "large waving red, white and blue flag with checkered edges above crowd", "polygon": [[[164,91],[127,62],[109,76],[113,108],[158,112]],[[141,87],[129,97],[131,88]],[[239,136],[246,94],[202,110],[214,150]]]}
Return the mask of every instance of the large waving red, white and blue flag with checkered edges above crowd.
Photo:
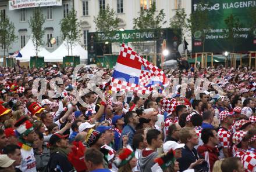
{"label": "large waving red, white and blue flag with checkered edges above crowd", "polygon": [[166,81],[161,69],[140,57],[131,47],[123,43],[109,89],[115,92],[126,90],[148,94],[155,86],[166,84]]}

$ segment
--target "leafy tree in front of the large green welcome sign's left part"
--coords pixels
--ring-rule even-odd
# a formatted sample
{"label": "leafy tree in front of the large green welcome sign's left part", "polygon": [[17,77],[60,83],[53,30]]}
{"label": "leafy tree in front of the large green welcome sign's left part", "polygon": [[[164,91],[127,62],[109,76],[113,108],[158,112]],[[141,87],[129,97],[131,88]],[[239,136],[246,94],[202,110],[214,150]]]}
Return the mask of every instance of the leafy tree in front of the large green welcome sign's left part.
{"label": "leafy tree in front of the large green welcome sign's left part", "polygon": [[211,28],[208,14],[208,5],[201,1],[197,4],[195,11],[190,14],[190,18],[187,20],[192,36],[201,40],[203,52],[205,47],[205,37],[207,31]]}

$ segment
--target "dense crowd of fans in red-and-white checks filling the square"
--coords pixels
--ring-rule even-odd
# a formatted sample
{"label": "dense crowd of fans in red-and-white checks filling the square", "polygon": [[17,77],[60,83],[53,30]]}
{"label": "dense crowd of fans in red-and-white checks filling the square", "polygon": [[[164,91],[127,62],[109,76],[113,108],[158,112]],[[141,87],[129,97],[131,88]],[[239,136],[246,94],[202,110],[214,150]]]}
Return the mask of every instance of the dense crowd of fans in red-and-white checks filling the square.
{"label": "dense crowd of fans in red-and-white checks filling the square", "polygon": [[[99,71],[108,80],[111,69],[80,69],[75,83],[73,68],[0,71],[0,172],[256,171],[254,69],[165,70],[171,88],[180,78],[168,96],[113,96],[109,82],[98,83],[104,96],[87,92],[81,96],[86,106],[70,92],[86,89]],[[33,87],[39,77],[47,80],[41,101],[33,94],[42,89]],[[61,94],[51,98],[56,77],[63,80],[56,84]],[[193,80],[183,97],[184,78],[207,78],[208,90],[197,95],[202,84]],[[216,83],[223,93],[215,78],[223,79]]]}

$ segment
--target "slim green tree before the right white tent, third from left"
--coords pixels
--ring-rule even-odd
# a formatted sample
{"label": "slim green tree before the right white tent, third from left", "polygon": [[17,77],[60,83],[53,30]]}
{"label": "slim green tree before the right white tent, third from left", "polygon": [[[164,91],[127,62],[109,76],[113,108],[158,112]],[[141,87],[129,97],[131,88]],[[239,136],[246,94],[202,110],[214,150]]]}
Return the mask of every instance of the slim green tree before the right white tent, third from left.
{"label": "slim green tree before the right white tent, third from left", "polygon": [[73,47],[79,41],[80,23],[76,17],[76,10],[72,10],[67,14],[66,18],[61,20],[62,40],[66,41],[67,55],[69,55],[69,48],[73,56]]}

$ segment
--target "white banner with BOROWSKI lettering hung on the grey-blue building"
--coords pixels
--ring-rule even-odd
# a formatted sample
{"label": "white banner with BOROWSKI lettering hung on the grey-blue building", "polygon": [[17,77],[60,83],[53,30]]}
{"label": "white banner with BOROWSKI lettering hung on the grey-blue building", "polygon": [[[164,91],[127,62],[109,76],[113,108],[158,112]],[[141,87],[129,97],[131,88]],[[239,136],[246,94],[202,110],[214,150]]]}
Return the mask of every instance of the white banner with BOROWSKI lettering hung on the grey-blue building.
{"label": "white banner with BOROWSKI lettering hung on the grey-blue building", "polygon": [[38,6],[62,6],[62,0],[12,0],[9,10],[33,8]]}

